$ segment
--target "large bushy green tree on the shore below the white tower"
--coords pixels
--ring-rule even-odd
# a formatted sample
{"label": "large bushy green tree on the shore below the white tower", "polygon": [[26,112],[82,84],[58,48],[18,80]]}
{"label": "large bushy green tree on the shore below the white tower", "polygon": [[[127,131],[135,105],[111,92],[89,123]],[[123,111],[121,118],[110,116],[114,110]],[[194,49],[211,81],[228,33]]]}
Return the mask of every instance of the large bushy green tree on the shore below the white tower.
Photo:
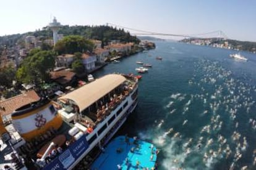
{"label": "large bushy green tree on the shore below the white tower", "polygon": [[23,83],[38,84],[49,80],[49,71],[53,69],[56,54],[53,51],[39,51],[23,60],[16,76]]}

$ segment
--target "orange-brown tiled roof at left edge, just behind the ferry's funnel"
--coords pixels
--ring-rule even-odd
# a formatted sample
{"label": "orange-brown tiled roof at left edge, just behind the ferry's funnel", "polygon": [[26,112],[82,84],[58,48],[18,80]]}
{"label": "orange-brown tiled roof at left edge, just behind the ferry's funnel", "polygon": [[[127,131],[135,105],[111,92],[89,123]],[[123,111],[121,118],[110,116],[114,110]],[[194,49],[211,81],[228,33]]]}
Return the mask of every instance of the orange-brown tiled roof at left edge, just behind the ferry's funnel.
{"label": "orange-brown tiled roof at left edge, just behind the ferry's funnel", "polygon": [[2,121],[9,121],[11,119],[11,113],[17,108],[38,100],[40,100],[40,97],[32,90],[0,102],[0,114],[2,116]]}

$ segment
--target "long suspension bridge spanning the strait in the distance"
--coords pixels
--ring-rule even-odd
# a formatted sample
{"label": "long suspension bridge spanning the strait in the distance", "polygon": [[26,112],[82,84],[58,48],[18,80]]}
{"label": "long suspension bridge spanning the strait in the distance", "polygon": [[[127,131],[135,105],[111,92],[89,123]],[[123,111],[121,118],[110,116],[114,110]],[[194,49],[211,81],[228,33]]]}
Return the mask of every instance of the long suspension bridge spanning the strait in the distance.
{"label": "long suspension bridge spanning the strait in the distance", "polygon": [[155,31],[146,31],[146,30],[138,30],[135,28],[129,28],[127,26],[122,26],[122,25],[116,25],[114,23],[106,23],[107,26],[114,26],[116,28],[123,28],[127,31],[130,32],[132,35],[157,35],[157,36],[175,36],[175,37],[182,37],[182,38],[220,38],[220,39],[228,39],[228,36],[221,31],[221,30],[216,30],[216,31],[210,31],[207,33],[198,33],[198,34],[170,34],[170,33],[158,33]]}

